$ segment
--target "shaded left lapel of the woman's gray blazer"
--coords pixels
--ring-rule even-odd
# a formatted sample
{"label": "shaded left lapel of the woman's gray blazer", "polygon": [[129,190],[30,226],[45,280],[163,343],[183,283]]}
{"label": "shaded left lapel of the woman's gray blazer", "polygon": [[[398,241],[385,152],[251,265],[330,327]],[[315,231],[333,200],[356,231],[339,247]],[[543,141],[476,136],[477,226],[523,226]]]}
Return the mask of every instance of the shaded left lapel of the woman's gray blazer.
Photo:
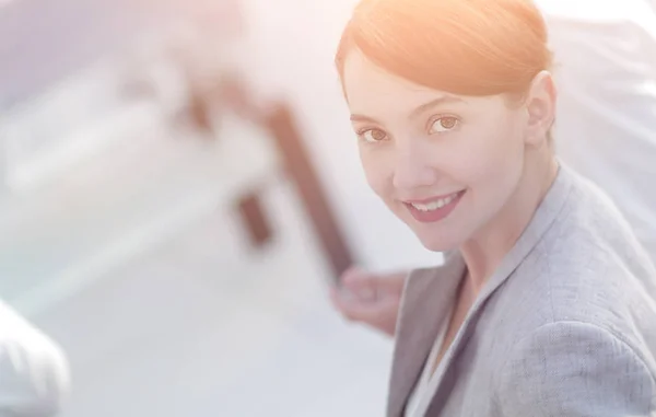
{"label": "shaded left lapel of the woman's gray blazer", "polygon": [[433,346],[441,322],[452,306],[465,263],[457,253],[446,255],[440,268],[414,270],[403,292],[397,324],[387,403],[387,416],[400,417]]}

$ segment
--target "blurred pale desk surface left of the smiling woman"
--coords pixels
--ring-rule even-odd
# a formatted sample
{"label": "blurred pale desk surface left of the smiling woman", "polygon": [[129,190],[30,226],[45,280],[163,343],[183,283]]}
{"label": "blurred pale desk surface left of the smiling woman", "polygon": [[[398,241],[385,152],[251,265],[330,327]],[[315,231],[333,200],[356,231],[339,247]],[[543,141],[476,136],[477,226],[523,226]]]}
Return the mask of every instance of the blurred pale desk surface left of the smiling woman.
{"label": "blurred pale desk surface left of the smiling woman", "polygon": [[[2,291],[70,358],[62,417],[384,413],[391,344],[331,311],[258,135],[235,119],[215,142],[136,132],[9,200]],[[277,234],[253,253],[232,202],[262,182]]]}

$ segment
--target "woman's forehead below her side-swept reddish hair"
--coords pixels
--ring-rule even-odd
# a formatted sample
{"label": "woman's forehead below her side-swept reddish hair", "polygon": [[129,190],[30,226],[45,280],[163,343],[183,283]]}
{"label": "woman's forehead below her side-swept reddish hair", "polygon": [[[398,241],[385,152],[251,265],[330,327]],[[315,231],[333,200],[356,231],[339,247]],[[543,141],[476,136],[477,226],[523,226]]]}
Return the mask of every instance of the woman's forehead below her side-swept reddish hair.
{"label": "woman's forehead below her side-swept reddish hair", "polygon": [[403,109],[441,96],[453,95],[389,73],[358,49],[347,55],[342,78],[344,94],[352,113]]}

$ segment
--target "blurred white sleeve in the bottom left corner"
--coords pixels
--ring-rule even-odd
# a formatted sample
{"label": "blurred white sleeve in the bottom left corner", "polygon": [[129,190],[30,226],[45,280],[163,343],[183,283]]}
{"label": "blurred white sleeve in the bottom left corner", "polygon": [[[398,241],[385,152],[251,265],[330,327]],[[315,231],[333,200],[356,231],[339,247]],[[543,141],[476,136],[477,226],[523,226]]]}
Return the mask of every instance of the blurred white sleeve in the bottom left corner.
{"label": "blurred white sleeve in the bottom left corner", "polygon": [[55,416],[69,383],[60,347],[0,303],[0,417]]}

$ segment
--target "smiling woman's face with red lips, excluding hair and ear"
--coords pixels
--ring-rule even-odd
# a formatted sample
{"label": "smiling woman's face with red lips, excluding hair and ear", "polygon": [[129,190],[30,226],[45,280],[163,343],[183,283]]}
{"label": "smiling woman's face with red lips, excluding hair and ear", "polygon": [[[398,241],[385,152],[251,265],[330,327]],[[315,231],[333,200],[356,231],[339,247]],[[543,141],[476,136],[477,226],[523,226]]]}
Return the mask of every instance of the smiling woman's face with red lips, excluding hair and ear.
{"label": "smiling woman's face with red lips, excluding hair and ear", "polygon": [[414,84],[356,49],[343,83],[367,182],[425,247],[458,247],[495,218],[523,175],[526,107]]}

